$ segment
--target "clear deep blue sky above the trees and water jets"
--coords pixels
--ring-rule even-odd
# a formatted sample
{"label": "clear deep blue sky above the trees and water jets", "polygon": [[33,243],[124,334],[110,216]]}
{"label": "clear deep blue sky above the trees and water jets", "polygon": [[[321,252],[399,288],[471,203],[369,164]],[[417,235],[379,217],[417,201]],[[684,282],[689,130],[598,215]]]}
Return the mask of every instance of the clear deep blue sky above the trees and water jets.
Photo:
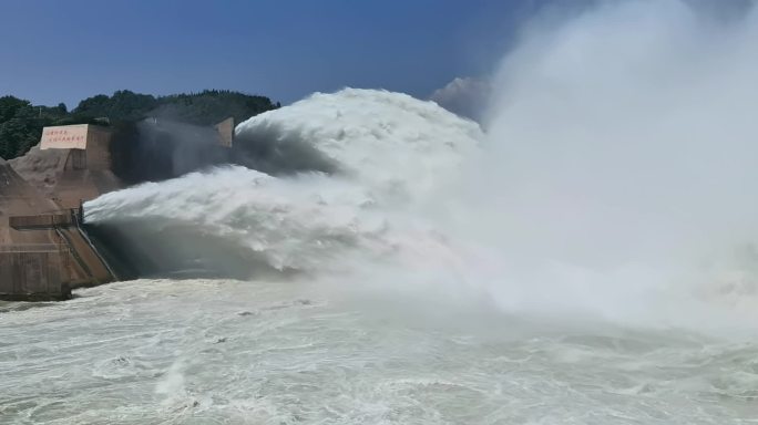
{"label": "clear deep blue sky above the trees and water jets", "polygon": [[4,0],[0,95],[229,89],[289,103],[381,87],[419,97],[486,74],[537,0]]}

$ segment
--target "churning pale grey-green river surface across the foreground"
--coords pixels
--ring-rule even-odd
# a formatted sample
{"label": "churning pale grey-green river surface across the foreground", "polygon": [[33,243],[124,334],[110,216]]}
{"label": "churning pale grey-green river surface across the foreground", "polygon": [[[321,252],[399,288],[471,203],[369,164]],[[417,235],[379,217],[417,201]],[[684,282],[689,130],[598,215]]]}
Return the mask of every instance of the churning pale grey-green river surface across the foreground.
{"label": "churning pale grey-green river surface across the foreground", "polygon": [[[309,284],[141,280],[4,304],[3,424],[752,424],[758,344]],[[414,301],[416,302],[416,301]]]}

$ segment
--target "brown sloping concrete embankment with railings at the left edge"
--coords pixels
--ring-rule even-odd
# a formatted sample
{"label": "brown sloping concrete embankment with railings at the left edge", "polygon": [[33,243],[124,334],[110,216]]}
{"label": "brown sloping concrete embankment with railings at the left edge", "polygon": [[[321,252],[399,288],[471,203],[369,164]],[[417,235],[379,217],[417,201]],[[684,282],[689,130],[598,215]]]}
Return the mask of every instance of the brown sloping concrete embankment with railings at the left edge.
{"label": "brown sloping concrete embankment with railings at the left edge", "polygon": [[60,300],[78,286],[113,280],[78,214],[0,159],[0,299]]}

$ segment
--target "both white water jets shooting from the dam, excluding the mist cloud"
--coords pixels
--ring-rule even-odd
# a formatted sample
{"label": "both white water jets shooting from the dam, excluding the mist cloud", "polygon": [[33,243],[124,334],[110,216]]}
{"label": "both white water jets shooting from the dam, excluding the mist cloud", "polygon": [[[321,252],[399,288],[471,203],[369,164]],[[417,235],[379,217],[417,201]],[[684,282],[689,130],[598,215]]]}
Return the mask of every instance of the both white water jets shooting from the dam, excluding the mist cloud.
{"label": "both white water jets shooting from the dam, excluding the mist cloud", "polygon": [[[409,211],[459,178],[482,136],[475,123],[433,103],[354,89],[258,115],[236,133],[238,143],[266,144],[266,152],[298,155],[304,151],[293,146],[311,146],[335,170],[195,173],[107,194],[86,205],[88,221],[127,226],[148,240],[136,248],[178,269],[232,268],[242,278],[262,262],[280,271],[346,271],[359,258],[420,255],[407,243],[416,219]],[[414,235],[437,243],[423,230]],[[204,248],[213,240],[213,249]]]}

